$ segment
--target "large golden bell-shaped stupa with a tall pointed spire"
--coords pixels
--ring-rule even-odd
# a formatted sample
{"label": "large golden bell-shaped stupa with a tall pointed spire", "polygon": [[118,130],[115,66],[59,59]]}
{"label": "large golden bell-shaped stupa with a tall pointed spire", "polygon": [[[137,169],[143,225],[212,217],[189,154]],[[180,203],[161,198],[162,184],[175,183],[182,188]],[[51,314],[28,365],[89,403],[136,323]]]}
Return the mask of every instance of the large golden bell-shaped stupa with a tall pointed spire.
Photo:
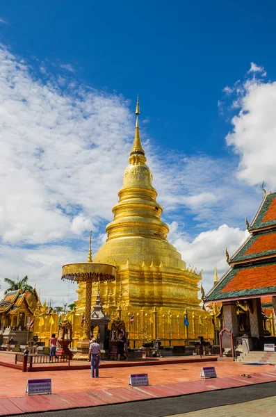
{"label": "large golden bell-shaped stupa with a tall pointed spire", "polygon": [[[107,224],[107,240],[95,254],[93,262],[116,266],[116,279],[100,285],[105,309],[123,306],[129,314],[142,308],[156,308],[164,313],[183,315],[184,310],[200,311],[197,284],[202,279],[192,268],[186,268],[181,254],[168,240],[168,225],[162,222],[163,209],[156,202],[152,172],[146,165],[141,145],[136,106],[136,129],[129,165],[124,171],[119,202],[113,207],[114,220]],[[92,290],[92,302],[98,288]],[[79,284],[77,311],[84,309],[86,287]]]}

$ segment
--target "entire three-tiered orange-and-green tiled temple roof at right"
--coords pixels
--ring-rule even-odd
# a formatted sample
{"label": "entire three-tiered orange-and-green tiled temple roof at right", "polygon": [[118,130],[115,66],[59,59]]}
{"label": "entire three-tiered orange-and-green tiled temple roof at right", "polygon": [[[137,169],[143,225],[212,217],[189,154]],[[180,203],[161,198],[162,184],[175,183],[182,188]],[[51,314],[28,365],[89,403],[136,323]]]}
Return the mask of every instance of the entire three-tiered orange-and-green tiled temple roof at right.
{"label": "entire three-tiered orange-and-green tiled temple roof at right", "polygon": [[248,231],[250,236],[229,260],[231,268],[206,295],[206,302],[276,295],[276,193],[265,192]]}

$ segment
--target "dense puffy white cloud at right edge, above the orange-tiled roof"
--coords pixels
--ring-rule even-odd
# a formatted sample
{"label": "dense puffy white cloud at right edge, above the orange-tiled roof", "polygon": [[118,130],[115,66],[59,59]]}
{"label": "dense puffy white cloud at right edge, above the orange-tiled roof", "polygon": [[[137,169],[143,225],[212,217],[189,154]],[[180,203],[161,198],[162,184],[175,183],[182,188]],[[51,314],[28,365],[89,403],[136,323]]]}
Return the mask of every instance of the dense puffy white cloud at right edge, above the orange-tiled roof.
{"label": "dense puffy white cloud at right edge, above the orange-tiled roof", "polygon": [[250,186],[261,184],[276,188],[276,83],[256,79],[243,84],[238,98],[240,111],[232,118],[233,130],[227,145],[240,159],[237,177]]}

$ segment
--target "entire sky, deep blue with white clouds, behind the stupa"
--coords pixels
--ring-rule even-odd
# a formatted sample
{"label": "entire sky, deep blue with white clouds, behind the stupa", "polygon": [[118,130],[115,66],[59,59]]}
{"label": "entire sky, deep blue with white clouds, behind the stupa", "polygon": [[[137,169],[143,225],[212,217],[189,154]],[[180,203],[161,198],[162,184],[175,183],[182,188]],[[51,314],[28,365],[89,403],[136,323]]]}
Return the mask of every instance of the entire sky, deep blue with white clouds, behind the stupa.
{"label": "entire sky, deep blue with white clouds, behind the stupa", "polygon": [[[244,218],[261,202],[262,179],[276,189],[268,161],[275,12],[273,1],[4,1],[3,276],[29,273],[53,297],[43,282],[82,259],[90,227],[95,247],[102,243],[139,93],[142,140],[170,240],[204,269],[210,287],[214,265],[226,268],[225,245],[234,251],[246,236]],[[11,195],[10,204],[22,207],[15,213],[7,208]]]}

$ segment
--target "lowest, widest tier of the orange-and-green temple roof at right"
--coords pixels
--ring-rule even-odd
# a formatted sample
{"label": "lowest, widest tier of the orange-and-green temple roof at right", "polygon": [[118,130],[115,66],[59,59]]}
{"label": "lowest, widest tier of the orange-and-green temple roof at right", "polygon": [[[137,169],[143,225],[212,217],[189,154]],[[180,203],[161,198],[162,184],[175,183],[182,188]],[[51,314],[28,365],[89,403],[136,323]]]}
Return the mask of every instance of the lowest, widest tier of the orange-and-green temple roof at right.
{"label": "lowest, widest tier of the orange-and-green temple roof at right", "polygon": [[238,300],[258,295],[276,295],[276,264],[231,268],[206,296],[206,302]]}

